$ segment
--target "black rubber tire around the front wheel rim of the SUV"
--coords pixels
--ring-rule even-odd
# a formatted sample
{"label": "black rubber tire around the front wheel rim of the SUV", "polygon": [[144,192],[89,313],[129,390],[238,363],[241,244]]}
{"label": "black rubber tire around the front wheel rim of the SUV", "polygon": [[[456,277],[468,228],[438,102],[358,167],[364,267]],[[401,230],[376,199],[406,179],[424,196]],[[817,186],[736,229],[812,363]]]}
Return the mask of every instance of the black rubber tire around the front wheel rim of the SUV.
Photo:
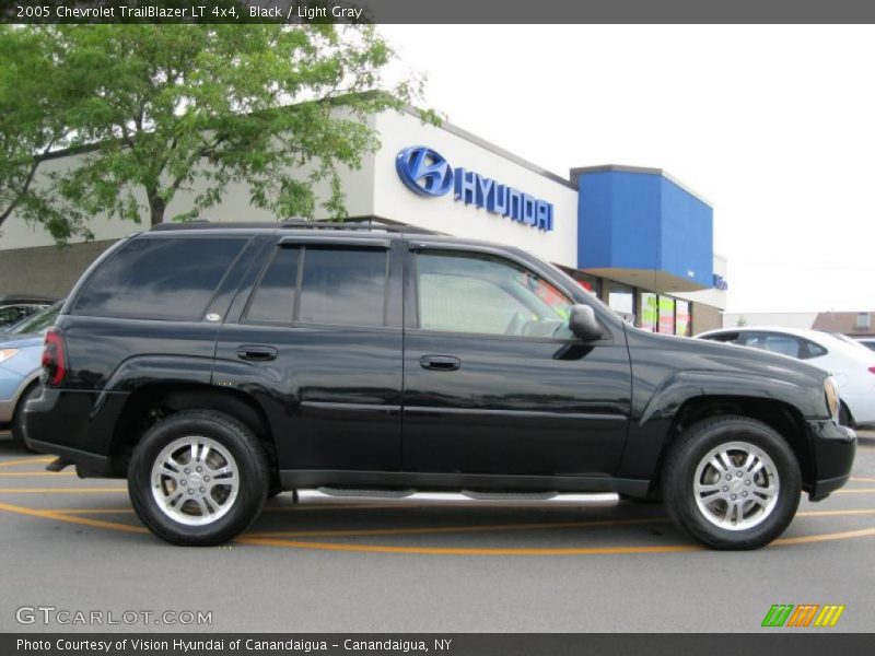
{"label": "black rubber tire around the front wheel rim of the SUV", "polygon": [[[730,443],[752,445],[771,459],[773,470],[777,471],[777,501],[768,513],[763,509],[765,506],[738,502],[747,503],[745,507],[749,509],[744,511],[744,513],[750,514],[750,523],[759,522],[748,528],[744,528],[744,524],[735,529],[716,525],[714,523],[716,519],[713,518],[715,513],[712,513],[712,519],[709,519],[708,509],[700,508],[697,502],[697,493],[693,490],[697,469],[700,465],[705,461],[712,461],[710,459],[707,460],[711,452]],[[707,471],[709,466],[704,465],[704,467],[703,471]],[[710,485],[719,484],[721,491],[716,492],[713,497],[708,496],[705,499],[718,500],[718,494],[726,495],[728,499],[728,495],[733,492],[733,489],[730,489],[728,485],[742,485],[740,481],[735,482],[734,479],[736,473],[743,470],[743,466],[739,467],[736,464],[727,467],[727,469],[732,473],[730,471],[725,473],[732,476],[733,481],[723,487],[724,479],[721,475],[718,479],[720,483],[709,483]],[[736,469],[737,471],[733,471]],[[712,475],[718,472],[719,470],[715,467],[711,467]],[[745,476],[738,476],[738,478],[744,480],[747,476],[745,473]],[[766,475],[752,476],[762,477]],[[746,491],[751,489],[756,488],[739,488],[738,494],[745,493],[745,497],[748,497]],[[663,465],[662,490],[668,515],[681,530],[693,539],[713,549],[758,549],[784,532],[793,520],[802,492],[802,475],[793,449],[772,427],[746,417],[720,417],[704,420],[690,426],[670,446]],[[732,497],[736,499],[734,495]],[[752,496],[749,499],[752,499]],[[705,505],[712,511],[723,507],[728,511],[730,502],[711,501],[710,505],[708,503]],[[730,513],[730,519],[743,519],[744,513],[739,516],[739,512],[742,511],[736,509],[734,514]],[[756,516],[757,513],[760,514],[759,517]]]}

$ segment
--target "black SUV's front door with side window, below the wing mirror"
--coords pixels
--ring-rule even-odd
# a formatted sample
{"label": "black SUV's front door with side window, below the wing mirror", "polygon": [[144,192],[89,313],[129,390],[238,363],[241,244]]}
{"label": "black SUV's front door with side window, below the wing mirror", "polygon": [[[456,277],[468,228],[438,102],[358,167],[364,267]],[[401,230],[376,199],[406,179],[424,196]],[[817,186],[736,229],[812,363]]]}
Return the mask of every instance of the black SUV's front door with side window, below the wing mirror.
{"label": "black SUV's front door with side window, below the wing mirror", "polygon": [[602,477],[630,410],[625,338],[584,344],[546,276],[488,253],[408,255],[404,469]]}

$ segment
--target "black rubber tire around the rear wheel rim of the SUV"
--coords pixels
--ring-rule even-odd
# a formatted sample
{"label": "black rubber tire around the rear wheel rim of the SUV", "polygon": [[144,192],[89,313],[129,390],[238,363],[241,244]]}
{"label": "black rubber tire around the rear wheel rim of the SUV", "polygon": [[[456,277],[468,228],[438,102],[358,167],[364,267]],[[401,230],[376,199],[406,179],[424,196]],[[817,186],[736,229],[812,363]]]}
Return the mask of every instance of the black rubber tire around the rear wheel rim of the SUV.
{"label": "black rubber tire around the rear wheel rim of the SUV", "polygon": [[[159,507],[155,495],[160,492],[153,494],[153,465],[165,448],[187,436],[218,443],[236,467],[236,497],[229,503],[224,515],[209,524],[192,526],[174,519]],[[260,514],[269,482],[267,455],[253,431],[237,419],[214,410],[177,412],[149,429],[133,450],[128,469],[128,492],[140,520],[159,538],[185,547],[222,544],[244,531]],[[161,489],[159,484],[155,488]],[[179,490],[180,494],[185,492]],[[183,497],[176,507],[185,504]]]}

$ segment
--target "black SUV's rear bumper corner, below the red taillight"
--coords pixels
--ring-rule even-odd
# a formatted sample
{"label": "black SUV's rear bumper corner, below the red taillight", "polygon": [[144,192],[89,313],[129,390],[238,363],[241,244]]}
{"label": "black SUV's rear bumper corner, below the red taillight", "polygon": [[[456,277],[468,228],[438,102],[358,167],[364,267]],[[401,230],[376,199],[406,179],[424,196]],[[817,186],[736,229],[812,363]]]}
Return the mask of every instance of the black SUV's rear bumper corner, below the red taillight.
{"label": "black SUV's rear bumper corner, below the red taillight", "polygon": [[31,448],[94,475],[114,473],[113,435],[127,394],[43,388],[24,407]]}

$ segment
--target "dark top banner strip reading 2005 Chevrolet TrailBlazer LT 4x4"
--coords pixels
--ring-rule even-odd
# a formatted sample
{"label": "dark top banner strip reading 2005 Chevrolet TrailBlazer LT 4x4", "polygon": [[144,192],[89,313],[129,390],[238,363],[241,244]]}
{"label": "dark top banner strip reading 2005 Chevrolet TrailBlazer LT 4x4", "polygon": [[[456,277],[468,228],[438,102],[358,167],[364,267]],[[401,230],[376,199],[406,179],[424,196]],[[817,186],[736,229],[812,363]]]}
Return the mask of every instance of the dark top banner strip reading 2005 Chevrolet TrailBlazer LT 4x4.
{"label": "dark top banner strip reading 2005 Chevrolet TrailBlazer LT 4x4", "polygon": [[0,0],[5,23],[873,23],[865,0]]}

